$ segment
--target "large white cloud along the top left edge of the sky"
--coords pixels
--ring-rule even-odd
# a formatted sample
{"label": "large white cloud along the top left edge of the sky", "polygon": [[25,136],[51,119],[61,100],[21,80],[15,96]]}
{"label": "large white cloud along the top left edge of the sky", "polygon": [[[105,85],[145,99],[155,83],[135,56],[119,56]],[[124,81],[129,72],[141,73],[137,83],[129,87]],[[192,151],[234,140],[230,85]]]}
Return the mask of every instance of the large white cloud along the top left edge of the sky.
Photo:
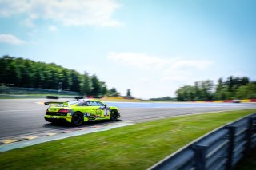
{"label": "large white cloud along the top left edge of the sky", "polygon": [[67,26],[118,26],[112,15],[119,5],[114,0],[1,0],[0,16],[26,14],[26,23],[50,19]]}

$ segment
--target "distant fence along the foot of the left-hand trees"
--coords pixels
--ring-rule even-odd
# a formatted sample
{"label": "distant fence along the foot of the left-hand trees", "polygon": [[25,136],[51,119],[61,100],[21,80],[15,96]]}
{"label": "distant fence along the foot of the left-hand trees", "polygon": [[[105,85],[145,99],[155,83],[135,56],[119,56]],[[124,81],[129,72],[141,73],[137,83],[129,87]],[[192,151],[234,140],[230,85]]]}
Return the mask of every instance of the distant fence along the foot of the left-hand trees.
{"label": "distant fence along the foot of the left-hand trees", "polygon": [[0,86],[0,93],[4,94],[62,94],[78,96],[77,92],[72,91],[59,91],[57,89],[36,89],[36,88],[21,88],[21,87],[6,87]]}

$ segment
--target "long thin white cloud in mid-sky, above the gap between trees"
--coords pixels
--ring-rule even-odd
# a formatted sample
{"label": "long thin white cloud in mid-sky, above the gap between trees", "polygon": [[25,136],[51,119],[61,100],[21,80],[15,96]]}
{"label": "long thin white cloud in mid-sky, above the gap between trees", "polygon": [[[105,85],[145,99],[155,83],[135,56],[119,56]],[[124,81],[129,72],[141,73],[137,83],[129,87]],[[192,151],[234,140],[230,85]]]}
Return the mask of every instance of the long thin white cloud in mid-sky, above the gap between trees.
{"label": "long thin white cloud in mid-sky, above the gap between trees", "polygon": [[140,69],[156,70],[181,70],[182,69],[206,69],[212,61],[207,60],[185,60],[182,58],[153,57],[144,53],[114,53],[108,55],[108,59],[125,65],[132,65]]}

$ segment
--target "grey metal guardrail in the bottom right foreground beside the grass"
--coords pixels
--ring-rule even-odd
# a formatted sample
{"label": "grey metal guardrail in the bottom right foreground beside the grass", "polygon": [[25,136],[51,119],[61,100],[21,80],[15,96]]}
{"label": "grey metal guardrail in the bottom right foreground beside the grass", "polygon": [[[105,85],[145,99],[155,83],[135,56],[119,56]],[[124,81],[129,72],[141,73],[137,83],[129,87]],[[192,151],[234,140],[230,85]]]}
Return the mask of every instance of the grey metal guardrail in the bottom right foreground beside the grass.
{"label": "grey metal guardrail in the bottom right foreground beside the grass", "polygon": [[232,169],[255,146],[256,113],[207,133],[149,169]]}

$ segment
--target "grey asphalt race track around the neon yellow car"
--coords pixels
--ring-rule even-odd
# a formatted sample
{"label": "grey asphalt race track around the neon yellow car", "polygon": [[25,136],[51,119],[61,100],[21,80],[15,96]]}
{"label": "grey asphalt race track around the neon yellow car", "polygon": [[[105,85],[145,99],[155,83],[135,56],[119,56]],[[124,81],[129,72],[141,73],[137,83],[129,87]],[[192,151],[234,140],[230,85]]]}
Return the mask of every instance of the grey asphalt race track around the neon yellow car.
{"label": "grey asphalt race track around the neon yellow car", "polygon": [[[67,99],[68,100],[68,99]],[[43,133],[58,133],[76,130],[70,125],[53,125],[43,118],[49,99],[1,99],[0,100],[0,140],[18,136],[31,136]],[[66,101],[59,99],[58,101]],[[174,117],[178,115],[209,113],[225,110],[255,109],[256,104],[233,103],[165,103],[165,102],[106,102],[120,108],[122,121],[142,122]],[[83,127],[97,126],[109,122],[90,122]],[[113,122],[111,122],[113,123]],[[81,127],[80,127],[81,128]]]}

